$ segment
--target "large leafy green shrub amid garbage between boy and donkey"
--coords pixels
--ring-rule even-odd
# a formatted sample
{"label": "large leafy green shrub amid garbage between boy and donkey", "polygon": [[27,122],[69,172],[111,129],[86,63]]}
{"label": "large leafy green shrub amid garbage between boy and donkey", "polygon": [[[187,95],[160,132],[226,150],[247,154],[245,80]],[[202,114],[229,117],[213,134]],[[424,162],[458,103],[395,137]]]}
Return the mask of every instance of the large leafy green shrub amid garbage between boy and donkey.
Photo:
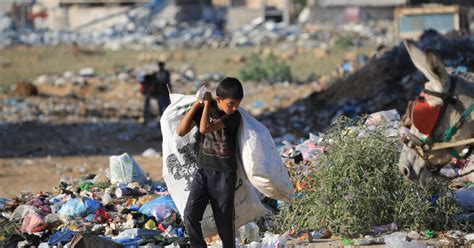
{"label": "large leafy green shrub amid garbage between boy and donkey", "polygon": [[[290,172],[307,186],[293,204],[282,207],[273,231],[325,227],[358,237],[374,225],[392,222],[399,229],[419,231],[456,226],[453,217],[460,208],[447,186],[422,189],[405,180],[396,168],[397,138],[386,137],[383,127],[369,129],[361,121],[339,119],[328,137],[332,142],[317,168]],[[439,198],[430,201],[435,194]]]}

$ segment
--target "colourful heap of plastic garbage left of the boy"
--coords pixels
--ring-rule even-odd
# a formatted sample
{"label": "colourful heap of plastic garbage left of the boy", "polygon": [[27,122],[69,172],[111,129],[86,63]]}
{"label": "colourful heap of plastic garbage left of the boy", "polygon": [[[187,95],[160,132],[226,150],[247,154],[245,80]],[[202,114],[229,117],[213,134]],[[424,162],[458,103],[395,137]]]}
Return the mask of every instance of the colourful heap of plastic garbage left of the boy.
{"label": "colourful heap of plastic garbage left of the boy", "polygon": [[52,192],[0,198],[0,244],[122,247],[185,244],[183,223],[164,183],[146,178],[128,154],[108,174],[66,176]]}

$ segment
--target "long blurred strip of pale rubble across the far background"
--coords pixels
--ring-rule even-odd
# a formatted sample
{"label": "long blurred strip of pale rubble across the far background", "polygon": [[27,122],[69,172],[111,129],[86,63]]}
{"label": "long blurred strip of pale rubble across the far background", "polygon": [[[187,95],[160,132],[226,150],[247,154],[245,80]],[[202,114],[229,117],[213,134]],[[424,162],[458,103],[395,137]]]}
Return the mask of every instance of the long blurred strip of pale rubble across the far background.
{"label": "long blurred strip of pale rubble across the far background", "polygon": [[[0,47],[15,45],[61,45],[78,44],[103,46],[107,50],[158,49],[158,48],[221,48],[264,46],[289,43],[297,47],[327,48],[341,37],[353,36],[353,43],[360,45],[367,40],[377,44],[391,45],[392,24],[389,21],[373,21],[362,24],[336,26],[329,23],[288,25],[256,18],[236,30],[224,32],[214,23],[176,22],[160,19],[160,16],[135,24],[117,24],[102,31],[51,31],[29,30],[15,32],[8,28],[8,17],[0,16]],[[2,26],[3,23],[3,26]]]}

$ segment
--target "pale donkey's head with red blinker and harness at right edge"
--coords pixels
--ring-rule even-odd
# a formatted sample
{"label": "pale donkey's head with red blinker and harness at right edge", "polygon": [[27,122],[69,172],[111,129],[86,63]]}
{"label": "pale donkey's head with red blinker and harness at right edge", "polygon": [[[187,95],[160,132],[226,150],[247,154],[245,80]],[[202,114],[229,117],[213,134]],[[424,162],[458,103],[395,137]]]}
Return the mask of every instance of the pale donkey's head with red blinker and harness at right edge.
{"label": "pale donkey's head with red blinker and harness at right edge", "polygon": [[420,97],[409,104],[406,115],[411,127],[402,137],[398,169],[424,187],[453,157],[470,154],[474,143],[474,83],[449,75],[434,51],[423,52],[410,40],[404,45],[428,82]]}

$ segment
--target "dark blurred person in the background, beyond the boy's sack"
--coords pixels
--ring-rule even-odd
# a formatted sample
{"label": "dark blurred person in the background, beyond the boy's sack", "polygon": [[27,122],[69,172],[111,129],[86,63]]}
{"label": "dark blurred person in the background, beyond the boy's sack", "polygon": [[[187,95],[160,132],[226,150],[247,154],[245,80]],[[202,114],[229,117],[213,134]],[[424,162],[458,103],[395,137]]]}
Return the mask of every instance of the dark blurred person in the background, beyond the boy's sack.
{"label": "dark blurred person in the background, beyond the boy's sack", "polygon": [[141,92],[145,95],[145,104],[143,107],[144,124],[150,120],[150,100],[157,100],[160,115],[163,114],[166,107],[171,103],[171,79],[170,73],[165,69],[164,62],[158,62],[159,70],[151,74],[140,75],[138,81],[141,84]]}

